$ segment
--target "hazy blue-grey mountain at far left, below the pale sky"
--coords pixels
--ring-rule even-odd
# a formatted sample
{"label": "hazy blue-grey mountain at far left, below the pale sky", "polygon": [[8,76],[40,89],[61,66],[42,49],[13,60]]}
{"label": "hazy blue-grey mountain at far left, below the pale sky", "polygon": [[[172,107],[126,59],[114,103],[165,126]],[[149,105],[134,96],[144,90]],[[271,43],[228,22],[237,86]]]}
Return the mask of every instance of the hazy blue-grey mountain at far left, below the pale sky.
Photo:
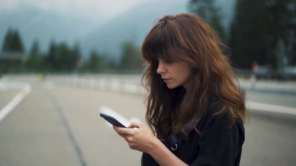
{"label": "hazy blue-grey mountain at far left, below the pale sky", "polygon": [[25,51],[29,52],[33,41],[38,39],[42,51],[46,52],[51,39],[72,45],[80,35],[95,26],[97,22],[79,15],[67,17],[28,5],[10,12],[0,10],[0,48],[9,27],[19,30]]}

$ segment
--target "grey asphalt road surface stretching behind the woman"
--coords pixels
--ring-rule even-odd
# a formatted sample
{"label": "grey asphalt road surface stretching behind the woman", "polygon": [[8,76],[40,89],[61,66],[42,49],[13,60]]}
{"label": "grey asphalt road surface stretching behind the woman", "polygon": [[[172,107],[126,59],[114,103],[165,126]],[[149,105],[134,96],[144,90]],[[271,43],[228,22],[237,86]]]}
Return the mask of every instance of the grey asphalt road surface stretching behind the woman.
{"label": "grey asphalt road surface stretching behind the woman", "polygon": [[[140,165],[141,152],[129,149],[98,112],[107,106],[143,122],[142,95],[28,81],[32,92],[0,121],[0,165]],[[271,96],[247,93],[268,102]],[[296,103],[294,95],[281,96],[272,103]],[[250,112],[241,165],[294,165],[296,117]]]}

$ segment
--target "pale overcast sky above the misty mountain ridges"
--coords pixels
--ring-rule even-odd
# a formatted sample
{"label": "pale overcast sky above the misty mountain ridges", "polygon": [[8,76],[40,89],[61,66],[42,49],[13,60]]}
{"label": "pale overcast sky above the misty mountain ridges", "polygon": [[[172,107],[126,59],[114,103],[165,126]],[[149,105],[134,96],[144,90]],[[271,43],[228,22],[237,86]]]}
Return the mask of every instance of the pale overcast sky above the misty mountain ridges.
{"label": "pale overcast sky above the misty mountain ridges", "polygon": [[69,16],[112,17],[143,1],[147,0],[0,0],[0,10],[15,11],[29,5]]}

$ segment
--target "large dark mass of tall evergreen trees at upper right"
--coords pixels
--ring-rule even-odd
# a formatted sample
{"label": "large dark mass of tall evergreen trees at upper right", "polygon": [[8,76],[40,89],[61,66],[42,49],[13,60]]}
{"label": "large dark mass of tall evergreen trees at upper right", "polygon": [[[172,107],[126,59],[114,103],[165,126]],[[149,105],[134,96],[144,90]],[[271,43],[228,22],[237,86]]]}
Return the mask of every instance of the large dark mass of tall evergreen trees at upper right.
{"label": "large dark mass of tall evergreen trees at upper right", "polygon": [[[232,59],[242,68],[250,68],[252,61],[278,66],[286,56],[291,62],[295,42],[295,9],[291,0],[237,0],[231,23],[229,46]],[[283,51],[278,51],[283,41]],[[278,54],[277,52],[285,52]]]}

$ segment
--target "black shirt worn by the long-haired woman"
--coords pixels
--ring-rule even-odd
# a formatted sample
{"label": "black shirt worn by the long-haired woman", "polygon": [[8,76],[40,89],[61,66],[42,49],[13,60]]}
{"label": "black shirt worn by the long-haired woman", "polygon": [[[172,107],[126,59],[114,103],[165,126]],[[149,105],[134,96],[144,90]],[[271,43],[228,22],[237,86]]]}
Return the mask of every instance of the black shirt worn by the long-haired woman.
{"label": "black shirt worn by the long-haired woman", "polygon": [[192,130],[188,141],[182,140],[177,150],[170,150],[192,166],[239,165],[245,137],[243,123],[236,118],[230,125],[228,115],[214,115],[220,110],[220,104],[210,106],[197,126],[201,134]]}

